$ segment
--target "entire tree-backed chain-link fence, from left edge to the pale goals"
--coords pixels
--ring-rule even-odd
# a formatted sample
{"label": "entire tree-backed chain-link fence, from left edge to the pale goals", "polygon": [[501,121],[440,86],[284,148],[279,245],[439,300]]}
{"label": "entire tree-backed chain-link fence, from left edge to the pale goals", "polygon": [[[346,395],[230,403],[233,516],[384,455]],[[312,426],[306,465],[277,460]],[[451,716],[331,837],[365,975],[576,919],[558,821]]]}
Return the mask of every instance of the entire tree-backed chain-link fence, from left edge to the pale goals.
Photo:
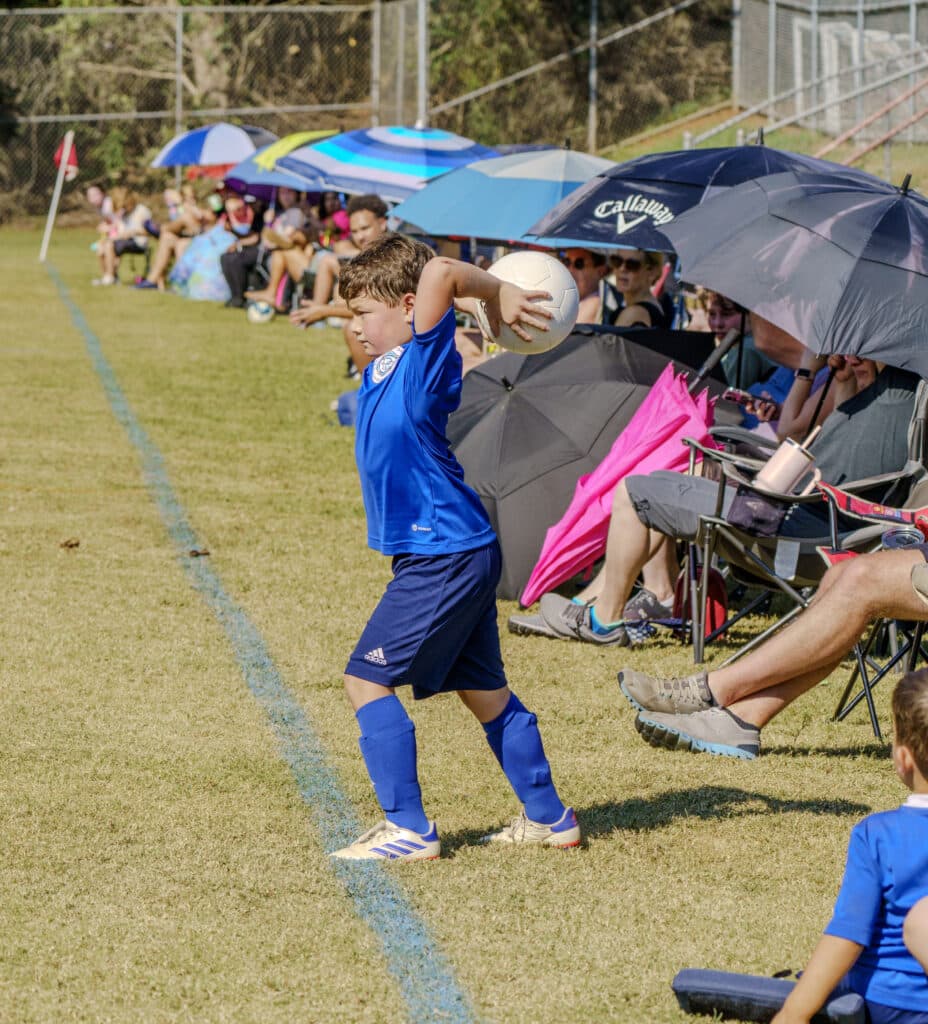
{"label": "entire tree-backed chain-link fence, from left edge to the pale goals", "polygon": [[0,218],[47,208],[69,128],[82,183],[143,191],[166,183],[149,164],[168,139],[219,120],[283,135],[413,124],[424,110],[491,145],[601,147],[729,93],[728,0],[677,8],[488,0],[477,18],[471,0],[432,2],[427,78],[417,0],[0,10]]}

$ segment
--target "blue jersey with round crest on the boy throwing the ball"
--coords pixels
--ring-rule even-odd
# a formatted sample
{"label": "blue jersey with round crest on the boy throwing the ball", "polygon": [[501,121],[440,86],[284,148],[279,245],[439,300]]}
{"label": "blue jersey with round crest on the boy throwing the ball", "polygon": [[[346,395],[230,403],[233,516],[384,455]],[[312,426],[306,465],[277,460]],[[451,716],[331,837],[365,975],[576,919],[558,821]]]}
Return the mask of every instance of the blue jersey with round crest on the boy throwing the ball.
{"label": "blue jersey with round crest on the boy throwing the ball", "polygon": [[454,309],[426,334],[413,331],[412,341],[367,367],[357,393],[368,544],[385,555],[471,551],[495,535],[446,437],[461,401]]}

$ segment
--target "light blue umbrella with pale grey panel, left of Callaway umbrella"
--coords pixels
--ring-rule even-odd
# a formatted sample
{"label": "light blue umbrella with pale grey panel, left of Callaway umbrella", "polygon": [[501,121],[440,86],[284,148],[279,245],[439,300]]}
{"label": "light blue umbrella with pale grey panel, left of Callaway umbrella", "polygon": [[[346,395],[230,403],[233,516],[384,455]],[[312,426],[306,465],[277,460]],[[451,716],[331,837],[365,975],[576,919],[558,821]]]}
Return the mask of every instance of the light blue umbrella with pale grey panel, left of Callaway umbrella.
{"label": "light blue umbrella with pale grey panel, left of Callaway umbrella", "polygon": [[516,153],[442,175],[391,212],[427,234],[509,242],[616,165],[573,150]]}

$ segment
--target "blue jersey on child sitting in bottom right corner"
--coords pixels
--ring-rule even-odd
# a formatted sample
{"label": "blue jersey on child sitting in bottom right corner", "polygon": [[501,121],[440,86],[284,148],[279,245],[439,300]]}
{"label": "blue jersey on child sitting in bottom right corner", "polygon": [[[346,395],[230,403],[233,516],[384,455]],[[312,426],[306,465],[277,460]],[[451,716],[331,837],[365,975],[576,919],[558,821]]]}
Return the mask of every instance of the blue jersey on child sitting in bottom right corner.
{"label": "blue jersey on child sitting in bottom right corner", "polygon": [[826,935],[863,946],[848,973],[854,991],[899,1010],[928,1011],[928,979],[905,948],[905,914],[928,896],[928,803],[910,797],[898,810],[854,826],[847,867]]}

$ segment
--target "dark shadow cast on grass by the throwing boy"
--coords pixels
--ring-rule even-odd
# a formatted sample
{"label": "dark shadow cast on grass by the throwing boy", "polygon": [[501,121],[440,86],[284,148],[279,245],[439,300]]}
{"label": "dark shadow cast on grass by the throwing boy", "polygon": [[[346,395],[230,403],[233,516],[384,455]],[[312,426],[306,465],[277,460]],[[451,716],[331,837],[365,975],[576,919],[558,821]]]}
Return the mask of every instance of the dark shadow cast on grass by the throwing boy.
{"label": "dark shadow cast on grass by the throwing boy", "polygon": [[[876,750],[882,751],[881,748]],[[817,752],[813,752],[817,753]],[[857,749],[849,753],[859,753]],[[695,790],[675,790],[647,799],[592,804],[577,809],[584,837],[606,836],[615,831],[643,831],[665,828],[677,818],[723,820],[760,814],[832,814],[859,818],[873,808],[850,800],[779,800],[766,794],[751,793],[733,786],[703,785]],[[465,828],[441,834],[441,854],[453,857],[462,848],[480,846],[481,839],[500,828],[502,822],[486,828]]]}

